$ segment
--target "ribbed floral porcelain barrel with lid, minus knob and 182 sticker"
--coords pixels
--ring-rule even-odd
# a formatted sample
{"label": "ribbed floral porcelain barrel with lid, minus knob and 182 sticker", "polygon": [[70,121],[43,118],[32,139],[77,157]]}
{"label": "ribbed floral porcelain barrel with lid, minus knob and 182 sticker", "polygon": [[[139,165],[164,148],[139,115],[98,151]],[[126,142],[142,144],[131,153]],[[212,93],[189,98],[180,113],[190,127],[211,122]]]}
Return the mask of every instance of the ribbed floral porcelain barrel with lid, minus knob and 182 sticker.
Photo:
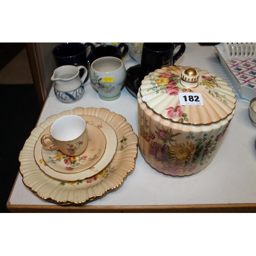
{"label": "ribbed floral porcelain barrel with lid, minus knob and 182 sticker", "polygon": [[[235,112],[235,94],[214,74],[195,68],[198,86],[182,86],[181,72],[188,68],[156,70],[142,80],[138,92],[141,154],[167,175],[185,176],[204,169]],[[201,93],[203,105],[180,105],[179,93],[184,92]]]}

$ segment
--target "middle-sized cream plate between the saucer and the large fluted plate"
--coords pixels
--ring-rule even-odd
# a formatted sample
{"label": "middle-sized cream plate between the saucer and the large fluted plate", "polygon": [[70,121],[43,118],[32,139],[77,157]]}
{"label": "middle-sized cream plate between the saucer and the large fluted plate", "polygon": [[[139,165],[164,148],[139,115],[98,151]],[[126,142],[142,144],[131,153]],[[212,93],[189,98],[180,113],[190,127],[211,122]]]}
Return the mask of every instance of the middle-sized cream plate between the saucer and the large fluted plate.
{"label": "middle-sized cream plate between the saucer and the large fluted plate", "polygon": [[[47,163],[45,163],[44,159],[42,159],[42,154],[41,154],[42,145],[40,143],[40,140],[43,134],[45,134],[45,132],[47,131],[47,129],[49,129],[49,126],[48,126],[48,128],[44,132],[42,132],[42,134],[39,136],[35,144],[34,157],[39,168],[46,175],[48,175],[53,179],[60,180],[60,181],[77,181],[77,180],[84,180],[86,178],[92,177],[95,174],[101,172],[101,170],[103,170],[105,167],[107,167],[109,163],[112,161],[116,153],[117,136],[112,126],[98,117],[89,116],[89,115],[81,115],[81,117],[83,117],[89,125],[93,124],[97,130],[101,129],[102,132],[104,133],[105,135],[104,139],[106,140],[105,154],[90,169],[85,169],[78,173],[68,173],[68,174],[56,172],[53,168],[50,168]],[[90,136],[89,131],[88,131],[88,135]],[[102,139],[102,138],[99,137],[99,139]],[[59,155],[57,155],[57,157],[58,156]],[[70,162],[70,164],[68,163],[68,166],[71,167],[75,164],[79,164],[79,160],[80,160],[79,158],[68,160],[68,162]]]}

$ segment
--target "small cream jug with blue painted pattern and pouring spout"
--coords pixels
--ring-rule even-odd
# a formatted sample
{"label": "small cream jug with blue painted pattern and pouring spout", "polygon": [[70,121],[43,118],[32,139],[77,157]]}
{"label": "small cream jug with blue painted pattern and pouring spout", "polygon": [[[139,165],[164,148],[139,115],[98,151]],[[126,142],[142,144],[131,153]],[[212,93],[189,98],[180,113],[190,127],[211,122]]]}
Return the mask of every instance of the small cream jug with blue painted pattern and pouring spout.
{"label": "small cream jug with blue painted pattern and pouring spout", "polygon": [[[79,77],[79,71],[83,69],[82,77]],[[63,103],[75,102],[83,96],[83,82],[88,75],[84,66],[61,66],[54,70],[51,80],[54,81],[54,92],[58,100]]]}

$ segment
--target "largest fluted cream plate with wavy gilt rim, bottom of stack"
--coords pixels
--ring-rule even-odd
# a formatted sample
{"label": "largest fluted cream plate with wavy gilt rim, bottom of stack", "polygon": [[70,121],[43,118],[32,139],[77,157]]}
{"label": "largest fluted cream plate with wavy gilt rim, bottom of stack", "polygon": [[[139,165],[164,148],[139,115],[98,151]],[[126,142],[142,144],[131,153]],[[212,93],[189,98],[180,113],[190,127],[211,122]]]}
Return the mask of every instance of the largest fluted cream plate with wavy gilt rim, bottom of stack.
{"label": "largest fluted cream plate with wavy gilt rim, bottom of stack", "polygon": [[[111,163],[90,178],[72,182],[58,181],[47,176],[34,158],[34,147],[41,133],[57,118],[68,114],[101,118],[113,127],[117,136],[116,154]],[[123,183],[124,178],[135,167],[137,145],[138,137],[123,116],[110,112],[108,109],[76,108],[53,115],[35,127],[20,152],[19,170],[25,186],[39,198],[58,204],[82,204],[102,196]]]}

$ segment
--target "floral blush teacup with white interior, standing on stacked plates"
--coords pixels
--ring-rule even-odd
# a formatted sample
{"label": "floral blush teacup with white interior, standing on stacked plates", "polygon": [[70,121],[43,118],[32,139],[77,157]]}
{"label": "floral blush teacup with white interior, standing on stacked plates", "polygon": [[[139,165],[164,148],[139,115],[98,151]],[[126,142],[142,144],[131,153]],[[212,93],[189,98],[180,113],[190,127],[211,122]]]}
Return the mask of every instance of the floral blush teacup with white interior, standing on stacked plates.
{"label": "floral blush teacup with white interior, standing on stacked plates", "polygon": [[78,115],[66,115],[55,120],[50,127],[50,134],[41,138],[41,144],[55,148],[67,156],[82,154],[88,145],[86,121]]}

